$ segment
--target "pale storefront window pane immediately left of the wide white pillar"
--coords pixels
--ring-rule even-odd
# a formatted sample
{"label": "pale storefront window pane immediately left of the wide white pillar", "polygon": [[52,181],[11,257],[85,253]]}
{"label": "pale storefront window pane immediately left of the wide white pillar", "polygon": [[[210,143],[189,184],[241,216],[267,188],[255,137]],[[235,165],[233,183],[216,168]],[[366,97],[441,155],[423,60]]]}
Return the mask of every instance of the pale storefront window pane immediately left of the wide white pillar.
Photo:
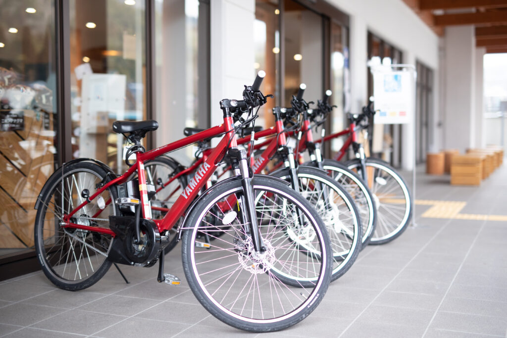
{"label": "pale storefront window pane immediately left of the wide white pillar", "polygon": [[[185,127],[209,127],[209,6],[155,0],[155,116],[164,128],[158,146],[184,137]],[[171,154],[183,163],[193,155],[192,147]]]}

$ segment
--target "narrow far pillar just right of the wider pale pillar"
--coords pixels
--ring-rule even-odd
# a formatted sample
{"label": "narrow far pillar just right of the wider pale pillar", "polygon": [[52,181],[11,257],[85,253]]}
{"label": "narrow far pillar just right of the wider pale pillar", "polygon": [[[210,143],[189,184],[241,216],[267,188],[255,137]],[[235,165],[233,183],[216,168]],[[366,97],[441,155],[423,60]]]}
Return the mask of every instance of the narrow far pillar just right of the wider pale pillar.
{"label": "narrow far pillar just right of the wider pale pillar", "polygon": [[484,147],[483,119],[484,119],[484,54],[486,47],[476,48],[475,56],[475,147]]}

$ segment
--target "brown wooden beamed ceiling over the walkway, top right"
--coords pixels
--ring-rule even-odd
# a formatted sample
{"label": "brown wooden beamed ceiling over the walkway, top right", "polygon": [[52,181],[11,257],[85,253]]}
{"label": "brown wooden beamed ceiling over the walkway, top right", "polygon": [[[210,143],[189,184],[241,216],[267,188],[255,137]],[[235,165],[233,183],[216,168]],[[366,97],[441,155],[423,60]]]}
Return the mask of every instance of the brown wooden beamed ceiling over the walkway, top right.
{"label": "brown wooden beamed ceiling over the walkway, top right", "polygon": [[476,46],[507,53],[507,0],[403,0],[435,33],[446,26],[474,25]]}

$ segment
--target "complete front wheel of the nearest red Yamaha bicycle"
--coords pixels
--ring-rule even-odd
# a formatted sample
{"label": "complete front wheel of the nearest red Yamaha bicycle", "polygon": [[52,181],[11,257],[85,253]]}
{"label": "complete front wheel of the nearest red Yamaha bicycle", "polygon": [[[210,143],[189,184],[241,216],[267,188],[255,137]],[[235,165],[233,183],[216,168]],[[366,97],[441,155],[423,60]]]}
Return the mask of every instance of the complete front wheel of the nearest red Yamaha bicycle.
{"label": "complete front wheel of the nearest red Yamaha bicycle", "polygon": [[[246,331],[276,331],[298,323],[320,303],[330,282],[331,249],[322,220],[290,187],[254,176],[253,193],[265,250],[253,249],[242,222],[238,179],[211,187],[191,210],[184,224],[183,267],[190,288],[213,316]],[[209,213],[218,224],[206,222]],[[199,241],[199,234],[221,228],[225,234],[209,244]]]}

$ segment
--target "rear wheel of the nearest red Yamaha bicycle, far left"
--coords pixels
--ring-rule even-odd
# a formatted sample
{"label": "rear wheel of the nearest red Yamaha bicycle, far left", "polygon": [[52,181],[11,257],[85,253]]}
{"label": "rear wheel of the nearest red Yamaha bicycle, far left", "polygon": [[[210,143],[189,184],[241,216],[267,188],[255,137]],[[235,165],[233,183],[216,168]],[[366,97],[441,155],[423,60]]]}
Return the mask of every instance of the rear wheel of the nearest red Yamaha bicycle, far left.
{"label": "rear wheel of the nearest red Yamaha bicycle, far left", "polygon": [[[62,172],[63,171],[63,172]],[[107,255],[113,245],[110,235],[99,232],[63,228],[62,215],[85,201],[106,172],[91,162],[65,165],[50,177],[40,196],[35,217],[35,251],[44,274],[59,288],[81,290],[95,284],[111,267]],[[80,209],[71,221],[96,228],[109,229],[109,215],[116,215],[115,187],[106,189],[91,203]]]}

